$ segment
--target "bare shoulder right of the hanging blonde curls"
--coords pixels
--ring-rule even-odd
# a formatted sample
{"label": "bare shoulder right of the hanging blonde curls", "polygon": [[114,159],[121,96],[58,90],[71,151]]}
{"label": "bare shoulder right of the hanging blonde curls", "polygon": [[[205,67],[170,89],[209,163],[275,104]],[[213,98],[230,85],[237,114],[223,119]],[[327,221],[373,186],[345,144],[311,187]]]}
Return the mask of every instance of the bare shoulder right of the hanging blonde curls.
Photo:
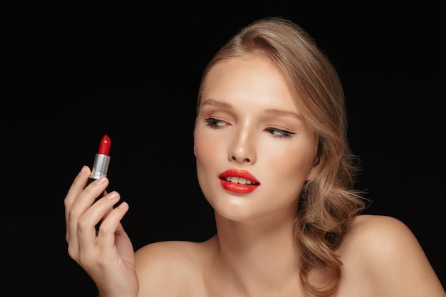
{"label": "bare shoulder right of the hanging blonde curls", "polygon": [[358,216],[338,254],[346,279],[367,279],[378,296],[446,296],[418,239],[393,217]]}

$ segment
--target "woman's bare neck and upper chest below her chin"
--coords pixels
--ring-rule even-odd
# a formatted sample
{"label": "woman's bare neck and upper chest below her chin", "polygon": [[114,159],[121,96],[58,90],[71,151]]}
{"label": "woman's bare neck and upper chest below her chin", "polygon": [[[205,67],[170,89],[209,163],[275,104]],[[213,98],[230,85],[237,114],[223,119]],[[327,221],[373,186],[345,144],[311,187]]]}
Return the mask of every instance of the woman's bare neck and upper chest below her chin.
{"label": "woman's bare neck and upper chest below her chin", "polygon": [[234,222],[215,214],[219,261],[231,278],[228,281],[247,295],[265,286],[285,290],[285,284],[290,283],[295,288],[299,282],[299,252],[293,236],[293,216]]}

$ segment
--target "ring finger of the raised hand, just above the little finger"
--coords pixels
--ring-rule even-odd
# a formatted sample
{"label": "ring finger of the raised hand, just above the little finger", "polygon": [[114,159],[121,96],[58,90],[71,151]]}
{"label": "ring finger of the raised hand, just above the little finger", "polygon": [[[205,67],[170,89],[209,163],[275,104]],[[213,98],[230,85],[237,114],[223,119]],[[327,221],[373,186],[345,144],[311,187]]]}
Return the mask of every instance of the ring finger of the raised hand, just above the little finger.
{"label": "ring finger of the raised hand, just above the little finger", "polygon": [[[105,197],[99,199],[92,207],[90,207],[80,218],[78,221],[78,241],[79,241],[79,249],[83,250],[93,250],[91,249],[92,244],[94,245],[96,242],[96,228],[95,225],[100,222],[103,217],[106,217],[106,213],[110,212],[110,209],[113,209],[113,205],[115,205],[120,199],[120,195],[118,192],[110,192]],[[113,212],[113,210],[111,211]],[[102,228],[103,222],[101,222]]]}

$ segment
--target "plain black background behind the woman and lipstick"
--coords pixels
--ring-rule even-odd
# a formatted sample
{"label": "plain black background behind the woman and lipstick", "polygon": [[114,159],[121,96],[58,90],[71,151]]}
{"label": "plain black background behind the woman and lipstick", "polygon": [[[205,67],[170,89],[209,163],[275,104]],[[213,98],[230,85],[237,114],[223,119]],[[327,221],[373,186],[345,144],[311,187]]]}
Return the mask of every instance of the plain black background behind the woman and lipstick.
{"label": "plain black background behind the woman and lipstick", "polygon": [[130,204],[135,249],[214,233],[192,151],[199,78],[233,33],[269,15],[304,27],[338,69],[366,213],[408,224],[445,286],[440,5],[92,2],[0,7],[7,296],[95,296],[66,251],[63,198],[105,134],[108,190]]}

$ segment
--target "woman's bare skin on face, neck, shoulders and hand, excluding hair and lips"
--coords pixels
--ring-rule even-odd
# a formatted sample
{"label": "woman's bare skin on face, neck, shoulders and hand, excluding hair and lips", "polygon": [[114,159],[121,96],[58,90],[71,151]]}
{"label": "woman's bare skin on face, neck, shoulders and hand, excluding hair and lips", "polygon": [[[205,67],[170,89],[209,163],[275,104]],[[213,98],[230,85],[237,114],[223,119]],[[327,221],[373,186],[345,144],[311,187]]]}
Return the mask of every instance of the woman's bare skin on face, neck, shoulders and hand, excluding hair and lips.
{"label": "woman's bare skin on face, neck, shoulders and hand, excluding hair and lips", "polygon": [[[214,66],[203,97],[197,175],[218,233],[202,243],[165,241],[133,253],[120,224],[128,204],[112,209],[119,194],[110,192],[91,205],[108,179],[84,189],[90,173],[84,167],[65,200],[70,255],[101,297],[311,297],[299,281],[292,234],[301,187],[317,174],[317,138],[286,79],[265,58],[236,58]],[[249,170],[260,187],[247,194],[225,189],[219,174],[231,168]],[[336,296],[446,296],[417,239],[397,219],[357,217],[337,254],[343,266]],[[311,281],[325,280],[313,271]]]}

